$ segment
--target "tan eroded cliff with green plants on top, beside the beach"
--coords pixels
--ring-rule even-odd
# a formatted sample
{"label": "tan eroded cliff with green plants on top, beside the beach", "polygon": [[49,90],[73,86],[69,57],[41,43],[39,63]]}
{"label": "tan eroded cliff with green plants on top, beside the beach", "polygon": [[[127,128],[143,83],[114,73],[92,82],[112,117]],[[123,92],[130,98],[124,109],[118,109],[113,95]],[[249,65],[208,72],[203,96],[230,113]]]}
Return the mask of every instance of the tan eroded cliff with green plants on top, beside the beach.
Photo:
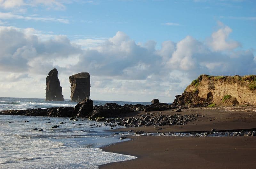
{"label": "tan eroded cliff with green plants on top, beside the beach", "polygon": [[201,75],[194,80],[182,95],[176,96],[174,105],[229,106],[256,104],[256,75],[208,76]]}

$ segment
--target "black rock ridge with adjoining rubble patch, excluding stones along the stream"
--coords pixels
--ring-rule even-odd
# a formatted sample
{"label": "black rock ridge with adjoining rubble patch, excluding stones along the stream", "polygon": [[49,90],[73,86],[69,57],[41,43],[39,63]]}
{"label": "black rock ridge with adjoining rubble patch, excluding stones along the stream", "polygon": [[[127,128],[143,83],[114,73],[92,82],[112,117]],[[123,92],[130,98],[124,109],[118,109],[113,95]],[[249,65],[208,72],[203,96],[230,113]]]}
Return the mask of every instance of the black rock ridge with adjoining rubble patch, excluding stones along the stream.
{"label": "black rock ridge with adjoining rubble patch, excluding stones along the stream", "polygon": [[[183,125],[188,121],[194,121],[198,115],[161,115],[158,113],[146,113],[139,117],[124,118],[132,112],[149,111],[181,111],[181,107],[159,103],[158,99],[152,100],[151,105],[118,105],[107,103],[104,106],[93,106],[91,99],[84,99],[75,107],[51,107],[46,109],[36,108],[27,110],[4,110],[0,114],[26,115],[26,116],[47,116],[47,117],[86,117],[95,121],[107,121],[111,126],[124,125],[126,127],[139,127],[151,125]],[[186,108],[186,107],[182,107]]]}

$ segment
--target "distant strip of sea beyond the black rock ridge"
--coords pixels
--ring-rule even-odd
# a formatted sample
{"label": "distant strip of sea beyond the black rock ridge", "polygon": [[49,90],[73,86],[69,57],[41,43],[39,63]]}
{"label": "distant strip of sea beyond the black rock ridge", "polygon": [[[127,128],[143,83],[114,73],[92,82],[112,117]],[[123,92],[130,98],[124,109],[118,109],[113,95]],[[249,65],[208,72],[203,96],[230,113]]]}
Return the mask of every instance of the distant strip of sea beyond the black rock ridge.
{"label": "distant strip of sea beyond the black rock ridge", "polygon": [[[118,105],[125,104],[151,104],[149,102],[130,102],[130,101],[103,101],[93,100],[93,105],[105,105],[106,103],[116,103]],[[64,101],[45,101],[45,99],[35,98],[9,98],[0,97],[0,110],[14,110],[14,109],[32,109],[32,108],[49,108],[49,107],[74,107],[77,102],[71,102],[70,99]]]}

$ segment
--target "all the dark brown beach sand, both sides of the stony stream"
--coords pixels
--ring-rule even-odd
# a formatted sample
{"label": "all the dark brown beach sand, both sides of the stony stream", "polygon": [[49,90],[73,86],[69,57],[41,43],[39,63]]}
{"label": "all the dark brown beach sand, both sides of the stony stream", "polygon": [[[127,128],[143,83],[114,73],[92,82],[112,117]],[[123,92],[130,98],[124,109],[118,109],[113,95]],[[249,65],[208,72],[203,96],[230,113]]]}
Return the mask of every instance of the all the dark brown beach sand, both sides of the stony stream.
{"label": "all the dark brown beach sand, both sides of the stony stream", "polygon": [[[176,114],[172,111],[157,111]],[[138,116],[136,112],[127,117]],[[121,128],[109,131],[185,132],[256,128],[256,106],[183,109],[179,114],[200,114],[198,121],[181,126]],[[104,151],[138,158],[110,163],[100,168],[256,168],[256,136],[181,137],[127,136],[131,141],[103,147]]]}

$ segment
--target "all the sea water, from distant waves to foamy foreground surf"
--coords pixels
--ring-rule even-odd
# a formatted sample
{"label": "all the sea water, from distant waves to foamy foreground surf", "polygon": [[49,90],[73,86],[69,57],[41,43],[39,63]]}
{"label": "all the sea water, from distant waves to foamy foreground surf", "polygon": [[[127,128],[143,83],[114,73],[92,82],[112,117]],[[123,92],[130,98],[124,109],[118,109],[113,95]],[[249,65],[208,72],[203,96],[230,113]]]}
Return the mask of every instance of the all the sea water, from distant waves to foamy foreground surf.
{"label": "all the sea water, from distant waves to foamy foreground surf", "polygon": [[[109,102],[150,104],[95,100],[94,105]],[[75,105],[76,102],[70,100],[0,97],[0,110]],[[52,128],[55,125],[59,127]],[[0,115],[0,168],[98,168],[98,165],[136,158],[102,151],[102,146],[123,141],[121,133],[103,131],[107,129],[110,126],[105,126],[104,122],[87,118],[70,121],[66,117]]]}

